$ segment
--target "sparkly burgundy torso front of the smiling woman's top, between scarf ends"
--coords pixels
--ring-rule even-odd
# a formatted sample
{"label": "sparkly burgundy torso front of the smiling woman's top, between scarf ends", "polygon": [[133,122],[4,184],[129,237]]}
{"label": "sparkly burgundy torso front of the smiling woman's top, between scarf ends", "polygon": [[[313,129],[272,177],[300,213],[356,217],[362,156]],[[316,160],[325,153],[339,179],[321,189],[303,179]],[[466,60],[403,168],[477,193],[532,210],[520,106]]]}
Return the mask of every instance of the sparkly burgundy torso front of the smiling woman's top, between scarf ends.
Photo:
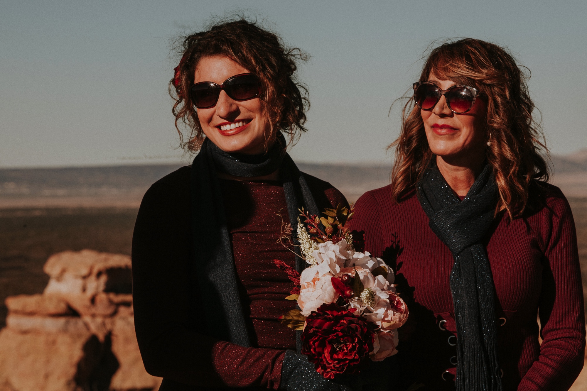
{"label": "sparkly burgundy torso front of the smiling woman's top, between scarf ends", "polygon": [[221,181],[227,227],[232,240],[241,302],[254,332],[254,345],[295,349],[295,331],[277,320],[295,302],[294,288],[274,259],[295,268],[295,255],[279,244],[281,213],[289,223],[284,188],[276,182]]}

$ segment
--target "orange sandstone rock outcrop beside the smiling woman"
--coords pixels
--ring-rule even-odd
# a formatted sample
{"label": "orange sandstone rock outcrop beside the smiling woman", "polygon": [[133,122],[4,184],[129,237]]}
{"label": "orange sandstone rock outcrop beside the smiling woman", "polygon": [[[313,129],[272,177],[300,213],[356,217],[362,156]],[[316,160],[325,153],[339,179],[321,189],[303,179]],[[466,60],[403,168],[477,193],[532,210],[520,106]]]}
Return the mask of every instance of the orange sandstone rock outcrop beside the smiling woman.
{"label": "orange sandstone rock outcrop beside the smiling woman", "polygon": [[0,391],[157,389],[134,334],[130,258],[65,251],[43,269],[42,295],[6,299]]}

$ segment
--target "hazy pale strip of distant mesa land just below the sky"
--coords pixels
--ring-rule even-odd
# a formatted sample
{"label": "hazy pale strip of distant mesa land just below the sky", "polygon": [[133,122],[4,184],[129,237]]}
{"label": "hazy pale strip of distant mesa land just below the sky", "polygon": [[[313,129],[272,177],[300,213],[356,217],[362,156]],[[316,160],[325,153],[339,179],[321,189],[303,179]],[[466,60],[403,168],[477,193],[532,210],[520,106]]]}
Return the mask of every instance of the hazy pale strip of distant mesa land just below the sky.
{"label": "hazy pale strip of distant mesa land just below the sky", "polygon": [[[178,164],[110,167],[0,169],[0,209],[30,207],[137,208],[151,184]],[[305,173],[329,181],[356,201],[389,184],[391,166],[358,163],[298,163]],[[587,149],[552,156],[551,182],[568,197],[587,197]]]}

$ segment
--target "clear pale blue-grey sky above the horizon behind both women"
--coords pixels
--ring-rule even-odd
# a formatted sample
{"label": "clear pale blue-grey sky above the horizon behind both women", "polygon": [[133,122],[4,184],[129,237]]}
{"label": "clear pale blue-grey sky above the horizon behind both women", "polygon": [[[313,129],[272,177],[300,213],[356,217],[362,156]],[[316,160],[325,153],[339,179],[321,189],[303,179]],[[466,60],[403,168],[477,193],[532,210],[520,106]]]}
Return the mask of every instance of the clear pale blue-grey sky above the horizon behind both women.
{"label": "clear pale blue-grey sky above the horizon behind both women", "polygon": [[390,162],[385,147],[399,129],[390,105],[430,42],[465,36],[505,45],[531,69],[554,153],[587,147],[584,0],[0,4],[0,167],[179,160],[170,40],[235,6],[312,55],[301,66],[312,107],[298,161]]}

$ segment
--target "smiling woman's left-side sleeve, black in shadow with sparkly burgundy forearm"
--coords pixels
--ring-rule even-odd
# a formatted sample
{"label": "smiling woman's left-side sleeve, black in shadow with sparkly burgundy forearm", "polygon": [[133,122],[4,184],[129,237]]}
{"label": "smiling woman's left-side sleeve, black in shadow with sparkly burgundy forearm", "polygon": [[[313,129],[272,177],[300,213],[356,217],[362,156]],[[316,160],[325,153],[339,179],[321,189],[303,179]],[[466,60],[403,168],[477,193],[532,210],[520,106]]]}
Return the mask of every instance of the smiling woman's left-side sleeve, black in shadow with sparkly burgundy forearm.
{"label": "smiling woman's left-side sleeve, black in shadow with sparkly burgundy forearm", "polygon": [[147,191],[134,227],[134,319],[144,366],[187,385],[277,389],[283,350],[243,348],[201,333],[198,309],[206,304],[190,265],[189,181],[178,182],[185,180],[166,177]]}

